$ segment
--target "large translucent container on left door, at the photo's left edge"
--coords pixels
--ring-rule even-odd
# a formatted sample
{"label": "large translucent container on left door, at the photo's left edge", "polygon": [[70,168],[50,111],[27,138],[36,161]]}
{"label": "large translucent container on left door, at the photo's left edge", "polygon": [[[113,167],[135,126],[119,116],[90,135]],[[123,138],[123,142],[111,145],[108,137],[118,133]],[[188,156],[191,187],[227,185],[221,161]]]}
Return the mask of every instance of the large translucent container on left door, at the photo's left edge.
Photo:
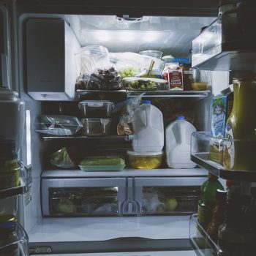
{"label": "large translucent container on left door, at the photo's left edge", "polygon": [[18,92],[0,87],[0,140],[14,140],[20,151],[25,124],[25,102]]}

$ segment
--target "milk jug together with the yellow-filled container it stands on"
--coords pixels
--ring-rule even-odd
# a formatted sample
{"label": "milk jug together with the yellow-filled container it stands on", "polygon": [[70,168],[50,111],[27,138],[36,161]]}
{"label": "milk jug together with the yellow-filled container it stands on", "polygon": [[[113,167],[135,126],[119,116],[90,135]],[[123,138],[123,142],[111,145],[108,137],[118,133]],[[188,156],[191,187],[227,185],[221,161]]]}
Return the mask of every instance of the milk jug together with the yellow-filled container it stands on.
{"label": "milk jug together with the yellow-filled container it stands on", "polygon": [[132,121],[133,151],[127,151],[129,165],[139,169],[154,169],[162,164],[164,124],[162,112],[145,100]]}

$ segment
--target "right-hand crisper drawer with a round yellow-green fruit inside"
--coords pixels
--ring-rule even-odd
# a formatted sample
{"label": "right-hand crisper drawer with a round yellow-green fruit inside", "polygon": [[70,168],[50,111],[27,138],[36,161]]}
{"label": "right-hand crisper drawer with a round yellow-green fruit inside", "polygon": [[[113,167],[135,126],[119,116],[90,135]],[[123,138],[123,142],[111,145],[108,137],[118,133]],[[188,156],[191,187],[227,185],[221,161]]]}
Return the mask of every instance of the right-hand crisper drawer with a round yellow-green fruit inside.
{"label": "right-hand crisper drawer with a round yellow-green fruit inside", "polygon": [[192,214],[197,209],[204,177],[135,178],[140,215]]}

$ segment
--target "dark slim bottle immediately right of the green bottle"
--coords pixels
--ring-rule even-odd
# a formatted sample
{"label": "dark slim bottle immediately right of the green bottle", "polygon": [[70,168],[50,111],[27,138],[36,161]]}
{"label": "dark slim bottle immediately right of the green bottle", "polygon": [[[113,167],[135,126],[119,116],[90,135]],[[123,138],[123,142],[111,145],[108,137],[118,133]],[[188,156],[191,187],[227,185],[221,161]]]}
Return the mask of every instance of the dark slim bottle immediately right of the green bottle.
{"label": "dark slim bottle immediately right of the green bottle", "polygon": [[227,192],[217,189],[216,192],[216,205],[213,210],[211,222],[207,226],[207,233],[212,240],[217,242],[218,240],[218,229],[225,220],[227,202]]}

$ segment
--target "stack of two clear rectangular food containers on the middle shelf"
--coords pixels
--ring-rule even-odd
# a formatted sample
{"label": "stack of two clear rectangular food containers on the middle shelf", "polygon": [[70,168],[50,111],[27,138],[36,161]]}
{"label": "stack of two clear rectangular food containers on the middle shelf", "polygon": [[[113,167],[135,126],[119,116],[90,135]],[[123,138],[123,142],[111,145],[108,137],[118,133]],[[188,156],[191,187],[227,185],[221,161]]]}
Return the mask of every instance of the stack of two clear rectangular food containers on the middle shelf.
{"label": "stack of two clear rectangular food containers on the middle shelf", "polygon": [[108,100],[84,100],[78,103],[78,108],[85,118],[83,135],[102,136],[110,134],[110,115],[114,104]]}

